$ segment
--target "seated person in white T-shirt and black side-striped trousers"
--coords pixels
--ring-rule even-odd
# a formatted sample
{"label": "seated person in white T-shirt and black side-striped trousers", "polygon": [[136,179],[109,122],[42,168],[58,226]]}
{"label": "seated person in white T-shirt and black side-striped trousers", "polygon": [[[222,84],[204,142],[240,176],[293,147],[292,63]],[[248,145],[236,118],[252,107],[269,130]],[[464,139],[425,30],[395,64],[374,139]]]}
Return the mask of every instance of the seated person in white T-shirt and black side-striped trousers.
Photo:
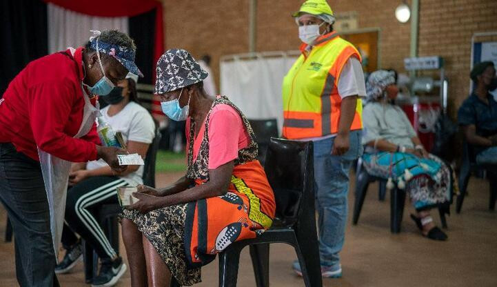
{"label": "seated person in white T-shirt and black side-striped trousers", "polygon": [[[130,154],[144,159],[155,135],[155,125],[149,112],[138,103],[136,75],[128,74],[124,81],[103,101],[102,118],[114,132],[121,132]],[[68,273],[83,257],[81,239],[97,252],[101,261],[99,275],[92,286],[112,286],[125,273],[126,266],[105,237],[96,212],[103,204],[117,204],[116,188],[143,184],[143,166],[128,166],[124,172],[113,172],[105,161],[73,164],[69,175],[68,199],[62,244],[65,257],[55,273]],[[81,236],[78,239],[77,232]]]}

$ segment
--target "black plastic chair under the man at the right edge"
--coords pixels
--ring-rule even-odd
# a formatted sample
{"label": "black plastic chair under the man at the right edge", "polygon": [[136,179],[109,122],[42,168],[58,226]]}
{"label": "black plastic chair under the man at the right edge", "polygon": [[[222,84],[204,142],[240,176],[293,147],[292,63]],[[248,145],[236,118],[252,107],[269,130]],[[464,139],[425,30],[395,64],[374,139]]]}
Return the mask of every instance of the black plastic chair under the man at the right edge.
{"label": "black plastic chair under the man at the right edge", "polygon": [[456,201],[457,213],[460,213],[461,208],[463,208],[463,201],[467,193],[467,184],[469,183],[471,172],[477,172],[478,170],[487,170],[487,173],[490,174],[488,177],[490,189],[489,210],[495,210],[497,201],[497,166],[476,164],[476,157],[474,156],[473,148],[471,148],[467,141],[464,141],[463,161],[459,171],[460,193]]}

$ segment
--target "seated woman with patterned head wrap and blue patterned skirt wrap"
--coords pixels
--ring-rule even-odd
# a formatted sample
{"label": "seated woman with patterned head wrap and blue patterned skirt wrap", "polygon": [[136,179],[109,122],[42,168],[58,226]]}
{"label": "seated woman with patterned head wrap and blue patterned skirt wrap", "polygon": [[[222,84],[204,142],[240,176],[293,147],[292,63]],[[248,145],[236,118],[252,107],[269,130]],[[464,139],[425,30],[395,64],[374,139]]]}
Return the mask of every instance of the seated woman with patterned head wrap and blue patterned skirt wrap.
{"label": "seated woman with patterned head wrap and blue patterned skirt wrap", "polygon": [[394,72],[373,72],[367,79],[366,90],[363,162],[367,172],[388,179],[387,188],[396,185],[409,192],[416,208],[416,215],[411,217],[423,236],[447,239],[435,226],[429,210],[450,203],[450,168],[425,150],[403,110],[394,104],[398,93]]}

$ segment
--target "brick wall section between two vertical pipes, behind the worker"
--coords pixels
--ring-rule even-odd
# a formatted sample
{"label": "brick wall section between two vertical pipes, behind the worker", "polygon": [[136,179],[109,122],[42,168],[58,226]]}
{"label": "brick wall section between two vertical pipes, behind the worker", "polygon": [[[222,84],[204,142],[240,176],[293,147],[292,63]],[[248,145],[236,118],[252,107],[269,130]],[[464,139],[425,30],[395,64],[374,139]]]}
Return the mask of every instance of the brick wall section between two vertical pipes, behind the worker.
{"label": "brick wall section between two vertical pipes, behind the worker", "polygon": [[[291,12],[301,0],[258,1],[257,50],[295,50],[300,45]],[[335,13],[356,11],[359,28],[380,29],[381,66],[403,70],[403,59],[409,56],[409,23],[395,19],[398,0],[328,1]]]}

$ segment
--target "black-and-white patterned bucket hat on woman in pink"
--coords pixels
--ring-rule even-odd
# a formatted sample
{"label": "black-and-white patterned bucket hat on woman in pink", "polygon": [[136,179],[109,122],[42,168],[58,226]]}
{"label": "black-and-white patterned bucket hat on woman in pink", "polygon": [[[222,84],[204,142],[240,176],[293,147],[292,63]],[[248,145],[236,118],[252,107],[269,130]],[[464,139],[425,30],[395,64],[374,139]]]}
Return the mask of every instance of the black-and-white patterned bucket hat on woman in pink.
{"label": "black-and-white patterned bucket hat on woman in pink", "polygon": [[199,83],[209,75],[192,55],[183,49],[165,51],[157,61],[156,72],[156,95]]}

